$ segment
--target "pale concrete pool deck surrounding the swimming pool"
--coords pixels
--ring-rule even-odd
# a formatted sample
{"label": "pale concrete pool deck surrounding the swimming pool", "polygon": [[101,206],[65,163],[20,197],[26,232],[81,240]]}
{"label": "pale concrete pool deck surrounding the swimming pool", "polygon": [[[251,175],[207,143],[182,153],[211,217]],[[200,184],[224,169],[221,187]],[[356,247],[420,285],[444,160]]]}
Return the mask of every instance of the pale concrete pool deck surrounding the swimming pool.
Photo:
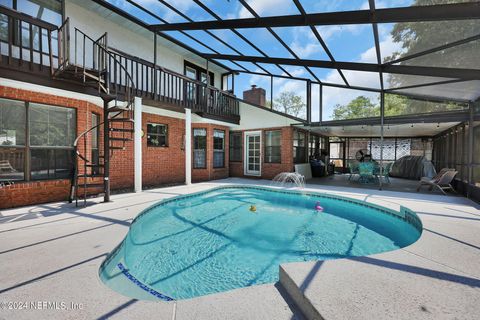
{"label": "pale concrete pool deck surrounding the swimming pool", "polygon": [[[105,204],[93,199],[86,208],[51,203],[0,211],[0,302],[29,304],[26,310],[2,305],[0,319],[303,319],[302,313],[312,319],[479,318],[480,206],[439,194],[307,185],[396,210],[406,206],[418,213],[424,231],[416,243],[393,252],[284,264],[281,285],[150,302],[100,282],[101,262],[142,209],[224,184],[270,182],[230,178],[114,195]],[[64,302],[68,310],[32,310],[30,302],[38,301]]]}

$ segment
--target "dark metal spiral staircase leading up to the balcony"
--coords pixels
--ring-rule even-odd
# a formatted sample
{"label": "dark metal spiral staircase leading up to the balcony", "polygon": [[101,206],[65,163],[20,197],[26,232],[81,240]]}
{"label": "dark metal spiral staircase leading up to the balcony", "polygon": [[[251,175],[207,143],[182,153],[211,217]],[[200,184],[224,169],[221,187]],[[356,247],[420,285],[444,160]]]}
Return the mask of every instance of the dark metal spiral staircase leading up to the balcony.
{"label": "dark metal spiral staircase leading up to the balcony", "polygon": [[[67,19],[58,29],[58,67],[53,77],[95,88],[104,102],[103,121],[80,133],[74,141],[69,201],[78,206],[81,199],[86,206],[92,194],[103,193],[105,202],[110,201],[110,162],[116,151],[125,150],[133,141],[135,83],[110,51],[107,33],[95,40],[75,28],[72,35],[73,43]],[[98,155],[94,155],[92,135],[97,132],[103,134],[103,140],[97,142]]]}

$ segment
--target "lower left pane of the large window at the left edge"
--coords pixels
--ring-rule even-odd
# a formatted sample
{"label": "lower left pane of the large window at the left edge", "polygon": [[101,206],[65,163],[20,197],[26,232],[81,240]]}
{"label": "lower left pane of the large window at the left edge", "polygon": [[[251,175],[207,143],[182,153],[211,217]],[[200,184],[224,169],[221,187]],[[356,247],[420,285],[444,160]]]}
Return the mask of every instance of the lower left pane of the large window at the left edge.
{"label": "lower left pane of the large window at the left edge", "polygon": [[25,150],[0,148],[0,182],[25,179]]}

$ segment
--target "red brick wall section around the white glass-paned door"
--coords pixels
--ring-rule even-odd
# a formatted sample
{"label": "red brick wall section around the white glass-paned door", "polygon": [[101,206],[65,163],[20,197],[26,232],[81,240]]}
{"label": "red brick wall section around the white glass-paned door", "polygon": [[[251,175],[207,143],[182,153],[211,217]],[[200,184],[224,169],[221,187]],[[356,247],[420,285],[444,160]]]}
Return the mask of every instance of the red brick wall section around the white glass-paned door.
{"label": "red brick wall section around the white glass-paned door", "polygon": [[[265,163],[265,158],[263,156],[264,142],[265,142],[265,131],[269,130],[281,130],[281,163]],[[244,141],[244,132],[245,131],[262,131],[262,175],[261,177],[255,176],[246,176],[244,175],[244,157],[245,157],[245,141]],[[233,131],[232,131],[233,132]],[[230,162],[230,176],[232,177],[248,177],[248,178],[262,178],[262,179],[272,179],[280,172],[292,172],[293,167],[293,128],[291,127],[280,127],[280,128],[266,128],[266,129],[255,129],[255,130],[244,130],[244,131],[235,131],[242,132],[242,162]]]}

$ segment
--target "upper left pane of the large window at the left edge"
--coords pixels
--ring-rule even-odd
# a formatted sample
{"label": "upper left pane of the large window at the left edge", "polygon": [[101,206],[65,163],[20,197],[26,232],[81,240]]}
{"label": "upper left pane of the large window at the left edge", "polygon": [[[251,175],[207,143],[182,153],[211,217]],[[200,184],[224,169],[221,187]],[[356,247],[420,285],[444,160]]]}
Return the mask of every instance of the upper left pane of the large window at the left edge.
{"label": "upper left pane of the large window at the left edge", "polygon": [[0,99],[0,146],[25,145],[25,103]]}

